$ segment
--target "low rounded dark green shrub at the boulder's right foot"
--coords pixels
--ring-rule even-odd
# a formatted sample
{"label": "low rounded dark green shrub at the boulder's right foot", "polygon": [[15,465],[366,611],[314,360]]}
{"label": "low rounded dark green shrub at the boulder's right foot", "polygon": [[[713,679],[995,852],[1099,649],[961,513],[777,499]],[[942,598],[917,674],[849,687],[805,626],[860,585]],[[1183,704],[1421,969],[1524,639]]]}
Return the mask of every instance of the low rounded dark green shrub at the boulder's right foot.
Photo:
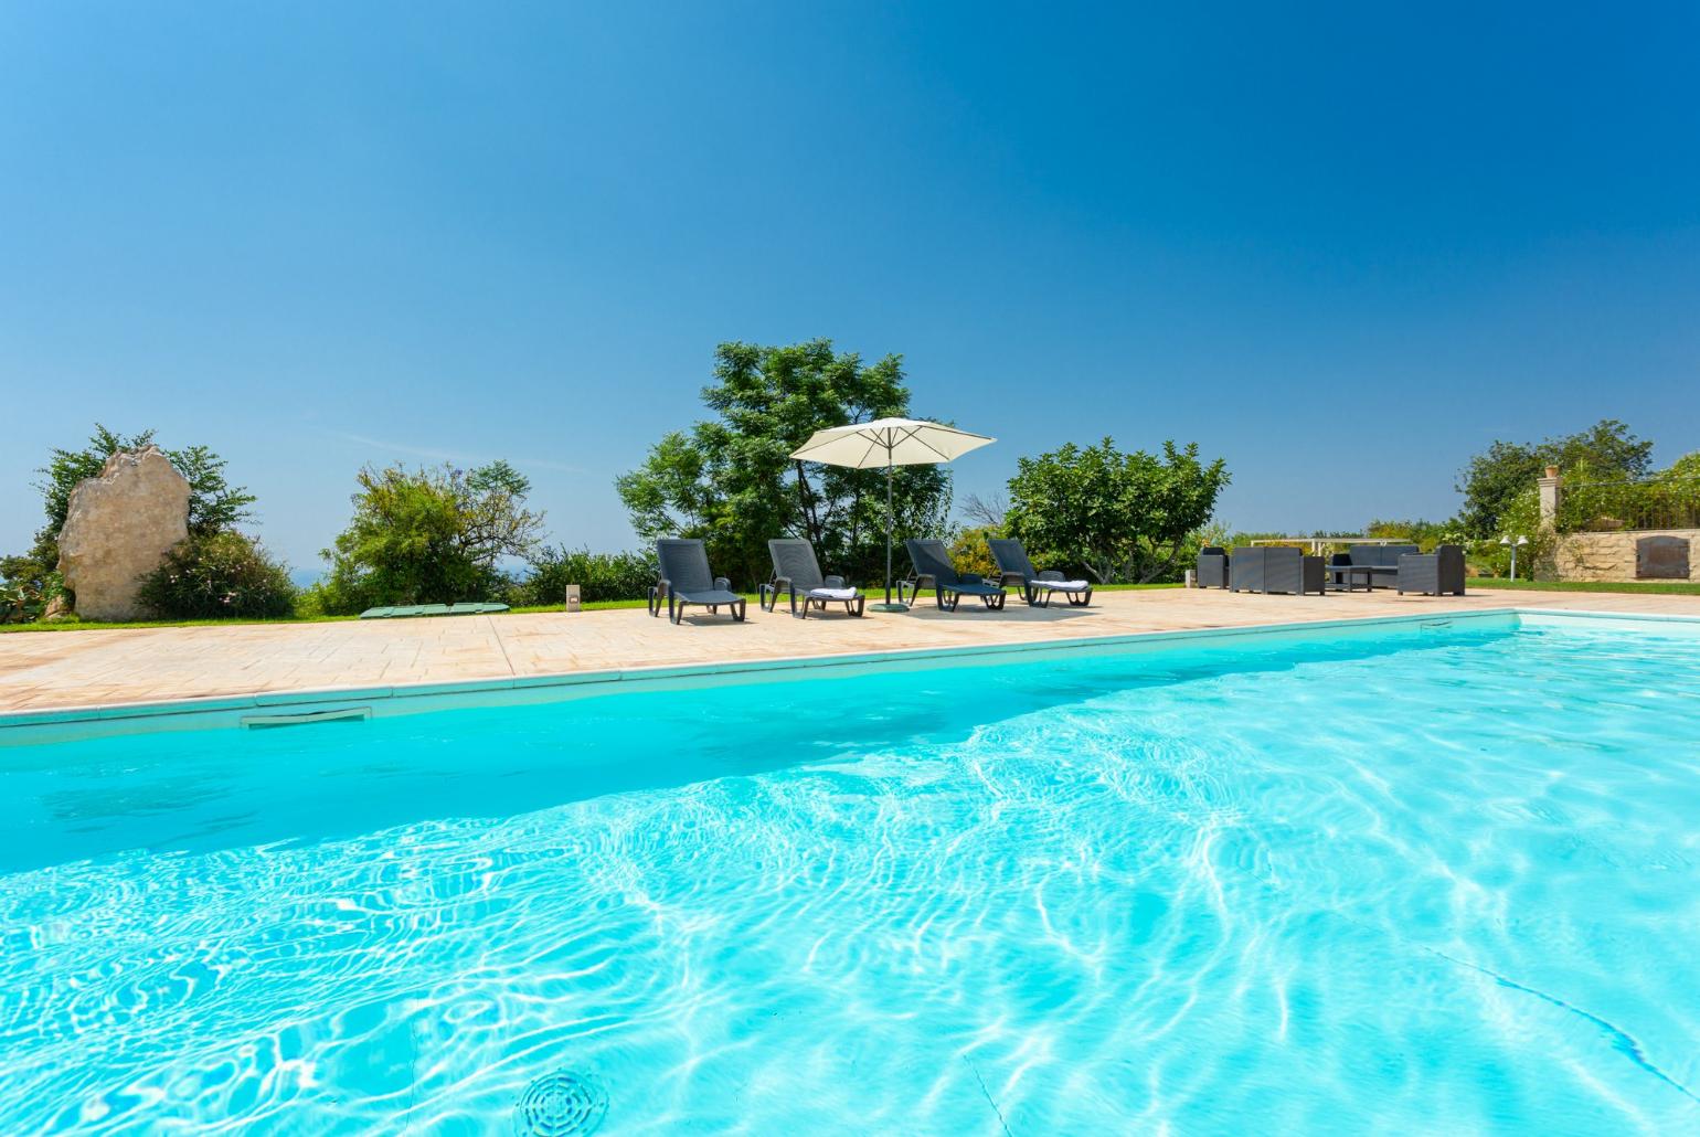
{"label": "low rounded dark green shrub at the boulder's right foot", "polygon": [[189,537],[143,578],[139,600],[163,620],[267,619],[294,612],[289,569],[238,532]]}

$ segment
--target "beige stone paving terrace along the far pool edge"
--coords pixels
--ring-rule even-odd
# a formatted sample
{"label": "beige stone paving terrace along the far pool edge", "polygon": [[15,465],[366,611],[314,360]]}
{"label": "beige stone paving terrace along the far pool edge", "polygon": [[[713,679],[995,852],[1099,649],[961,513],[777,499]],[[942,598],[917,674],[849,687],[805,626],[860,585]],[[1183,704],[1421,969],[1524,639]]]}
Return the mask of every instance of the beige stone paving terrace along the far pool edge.
{"label": "beige stone paving terrace along the far pool edge", "polygon": [[796,620],[751,607],[745,624],[704,614],[683,627],[626,608],[3,634],[0,712],[1508,607],[1700,617],[1700,597],[1629,593],[1256,597],[1161,590],[1098,593],[1091,608],[1028,608],[1013,597],[1005,612],[969,603],[945,614],[928,600],[908,614],[869,612],[860,620]]}

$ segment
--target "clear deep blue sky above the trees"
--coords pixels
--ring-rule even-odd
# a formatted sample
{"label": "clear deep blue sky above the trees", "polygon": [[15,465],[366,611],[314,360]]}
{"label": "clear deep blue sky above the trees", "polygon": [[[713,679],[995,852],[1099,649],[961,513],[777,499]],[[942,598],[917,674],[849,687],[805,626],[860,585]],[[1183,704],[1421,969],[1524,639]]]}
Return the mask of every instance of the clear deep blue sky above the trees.
{"label": "clear deep blue sky above the trees", "polygon": [[1496,437],[1700,447],[1697,5],[600,7],[0,0],[0,549],[97,418],[299,568],[394,459],[626,547],[733,338],[901,352],[1000,438],[959,498],[1197,440],[1309,530]]}

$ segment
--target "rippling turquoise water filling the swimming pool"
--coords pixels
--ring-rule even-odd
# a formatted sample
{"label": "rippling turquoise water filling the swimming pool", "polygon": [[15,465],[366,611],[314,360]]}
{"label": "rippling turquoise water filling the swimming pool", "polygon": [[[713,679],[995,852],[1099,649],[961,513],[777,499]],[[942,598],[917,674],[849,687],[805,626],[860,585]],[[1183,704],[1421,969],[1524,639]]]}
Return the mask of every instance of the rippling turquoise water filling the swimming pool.
{"label": "rippling turquoise water filling the swimming pool", "polygon": [[0,750],[0,1132],[1695,1132],[1700,639],[1572,624]]}

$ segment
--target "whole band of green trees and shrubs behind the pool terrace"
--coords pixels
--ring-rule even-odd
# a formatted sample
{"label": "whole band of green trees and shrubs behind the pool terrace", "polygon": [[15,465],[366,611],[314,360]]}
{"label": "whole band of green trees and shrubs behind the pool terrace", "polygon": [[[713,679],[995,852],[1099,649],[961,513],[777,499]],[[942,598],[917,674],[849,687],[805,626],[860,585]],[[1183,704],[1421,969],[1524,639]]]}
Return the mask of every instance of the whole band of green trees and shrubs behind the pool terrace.
{"label": "whole band of green trees and shrubs behind the pool terrace", "polygon": [[[663,435],[636,469],[615,479],[639,540],[700,537],[716,569],[751,591],[768,574],[767,540],[806,537],[828,571],[879,585],[884,472],[789,455],[821,428],[908,416],[901,359],[864,362],[830,340],[722,343],[702,401],[707,416]],[[151,430],[124,435],[97,425],[85,445],[48,455],[36,483],[42,525],[29,549],[0,557],[0,624],[94,625],[78,620],[75,595],[58,571],[71,491],[112,454],[153,442]],[[586,607],[632,605],[656,578],[648,549],[593,552],[551,540],[546,517],[527,505],[530,481],[495,461],[468,469],[393,464],[357,471],[352,512],[321,554],[321,578],[298,588],[289,566],[252,532],[255,496],[230,481],[228,461],[206,445],[163,454],[189,483],[189,534],[141,581],[139,598],[153,620],[325,620],[379,605],[454,602],[541,610],[559,608],[568,585],[580,586]],[[1413,540],[1425,551],[1462,544],[1479,585],[1511,585],[1504,578],[1513,549],[1522,552],[1525,578],[1550,557],[1554,532],[1540,523],[1535,489],[1547,466],[1571,471],[1579,486],[1557,518],[1559,532],[1651,517],[1692,523],[1700,515],[1700,454],[1664,471],[1652,469],[1651,455],[1652,444],[1615,420],[1540,444],[1494,442],[1460,472],[1455,518],[1375,520],[1363,534]],[[1122,450],[1114,438],[1069,442],[1018,457],[1006,493],[971,495],[955,520],[947,467],[899,467],[892,529],[899,542],[944,534],[967,573],[991,573],[986,539],[1010,535],[1035,561],[1100,588],[1173,585],[1202,546],[1292,537],[1231,532],[1216,518],[1227,484],[1226,461],[1205,461],[1195,442],[1164,442],[1156,454]]]}

